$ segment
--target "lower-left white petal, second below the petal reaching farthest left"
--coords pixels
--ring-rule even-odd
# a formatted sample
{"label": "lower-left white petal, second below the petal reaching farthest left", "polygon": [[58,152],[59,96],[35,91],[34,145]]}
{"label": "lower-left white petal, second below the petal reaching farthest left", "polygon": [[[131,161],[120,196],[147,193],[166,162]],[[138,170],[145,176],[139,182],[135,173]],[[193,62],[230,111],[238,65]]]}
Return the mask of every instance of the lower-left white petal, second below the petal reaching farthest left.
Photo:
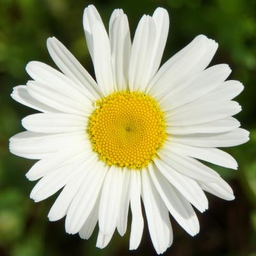
{"label": "lower-left white petal, second below the petal reaching farthest left", "polygon": [[83,155],[76,156],[72,163],[56,168],[40,179],[30,193],[35,202],[45,200],[65,186],[76,175],[79,166],[84,162]]}

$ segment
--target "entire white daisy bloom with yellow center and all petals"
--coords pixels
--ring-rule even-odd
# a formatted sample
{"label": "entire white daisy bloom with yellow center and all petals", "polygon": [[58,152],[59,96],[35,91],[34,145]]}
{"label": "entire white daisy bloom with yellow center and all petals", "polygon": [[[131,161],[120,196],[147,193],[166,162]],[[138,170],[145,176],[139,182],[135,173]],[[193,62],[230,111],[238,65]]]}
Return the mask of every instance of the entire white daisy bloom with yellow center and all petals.
{"label": "entire white daisy bloom with yellow center and all petals", "polygon": [[49,220],[66,216],[69,234],[88,239],[99,221],[97,247],[115,229],[123,236],[131,207],[130,250],[143,233],[141,198],[157,253],[173,241],[169,212],[188,234],[199,232],[191,205],[208,208],[204,191],[225,200],[228,184],[197,159],[237,169],[218,149],[248,141],[231,117],[241,111],[232,101],[242,90],[225,81],[231,70],[207,68],[218,44],[196,38],[159,68],[168,35],[163,8],[143,15],[131,44],[127,16],[114,10],[109,36],[93,5],[84,10],[84,32],[97,83],[56,38],[47,40],[61,72],[31,61],[33,81],[13,88],[12,97],[41,111],[22,120],[28,131],[10,139],[10,151],[40,159],[27,173],[37,180],[31,198],[39,202],[63,188]]}

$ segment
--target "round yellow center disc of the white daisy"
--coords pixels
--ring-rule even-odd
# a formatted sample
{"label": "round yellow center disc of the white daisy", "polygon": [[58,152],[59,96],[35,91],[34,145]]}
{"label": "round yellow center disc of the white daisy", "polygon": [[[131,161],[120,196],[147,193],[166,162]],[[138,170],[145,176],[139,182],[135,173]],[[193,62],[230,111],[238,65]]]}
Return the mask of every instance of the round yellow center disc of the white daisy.
{"label": "round yellow center disc of the white daisy", "polygon": [[152,162],[166,139],[163,112],[156,100],[140,92],[97,100],[87,132],[102,161],[131,169]]}

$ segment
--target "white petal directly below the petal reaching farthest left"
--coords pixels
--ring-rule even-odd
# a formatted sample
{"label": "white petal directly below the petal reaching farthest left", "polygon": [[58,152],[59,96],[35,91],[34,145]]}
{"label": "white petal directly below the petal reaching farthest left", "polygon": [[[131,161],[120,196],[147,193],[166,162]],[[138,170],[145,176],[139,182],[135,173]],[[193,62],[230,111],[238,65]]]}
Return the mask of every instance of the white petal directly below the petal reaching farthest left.
{"label": "white petal directly below the petal reaching farthest left", "polygon": [[75,157],[77,154],[84,152],[84,157],[88,156],[88,154],[90,154],[89,150],[91,150],[91,145],[89,142],[83,142],[84,143],[81,143],[81,145],[78,147],[63,148],[56,153],[49,154],[49,156],[36,162],[28,171],[28,173],[26,173],[26,177],[29,180],[40,179],[44,175],[47,175],[47,173],[62,166],[63,164],[69,164],[73,157]]}

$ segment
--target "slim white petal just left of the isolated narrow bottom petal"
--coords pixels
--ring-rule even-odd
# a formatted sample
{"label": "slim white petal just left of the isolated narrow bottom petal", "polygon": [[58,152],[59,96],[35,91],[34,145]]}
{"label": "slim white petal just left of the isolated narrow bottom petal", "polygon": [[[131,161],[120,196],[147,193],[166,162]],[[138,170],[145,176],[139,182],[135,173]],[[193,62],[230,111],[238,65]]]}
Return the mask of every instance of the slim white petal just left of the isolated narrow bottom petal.
{"label": "slim white petal just left of the isolated narrow bottom petal", "polygon": [[131,172],[127,168],[122,170],[123,176],[123,186],[122,186],[122,195],[120,200],[120,210],[118,214],[118,220],[116,223],[116,228],[120,236],[124,236],[127,228],[127,217],[129,210],[130,202],[130,175]]}

